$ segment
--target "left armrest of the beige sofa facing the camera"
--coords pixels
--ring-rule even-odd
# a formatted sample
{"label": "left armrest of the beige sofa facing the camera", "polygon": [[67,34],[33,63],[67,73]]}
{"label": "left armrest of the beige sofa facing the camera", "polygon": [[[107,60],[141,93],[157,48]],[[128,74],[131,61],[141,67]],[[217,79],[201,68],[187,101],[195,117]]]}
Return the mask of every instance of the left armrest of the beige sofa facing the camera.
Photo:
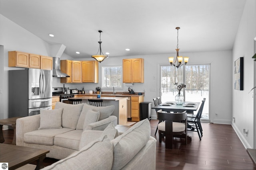
{"label": "left armrest of the beige sofa facing the camera", "polygon": [[23,146],[24,134],[40,127],[40,115],[22,117],[16,120],[16,145]]}

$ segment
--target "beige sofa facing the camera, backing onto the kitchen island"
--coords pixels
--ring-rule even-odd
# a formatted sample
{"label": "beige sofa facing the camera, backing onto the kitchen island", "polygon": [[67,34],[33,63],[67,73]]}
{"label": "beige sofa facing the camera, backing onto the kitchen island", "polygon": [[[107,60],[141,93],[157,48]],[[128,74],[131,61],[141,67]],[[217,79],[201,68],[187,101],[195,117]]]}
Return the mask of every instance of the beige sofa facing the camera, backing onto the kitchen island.
{"label": "beige sofa facing the camera, backing onto the kitchen island", "polygon": [[47,157],[63,159],[79,149],[84,130],[103,131],[117,117],[114,106],[94,107],[57,102],[54,110],[16,121],[16,145],[50,150]]}

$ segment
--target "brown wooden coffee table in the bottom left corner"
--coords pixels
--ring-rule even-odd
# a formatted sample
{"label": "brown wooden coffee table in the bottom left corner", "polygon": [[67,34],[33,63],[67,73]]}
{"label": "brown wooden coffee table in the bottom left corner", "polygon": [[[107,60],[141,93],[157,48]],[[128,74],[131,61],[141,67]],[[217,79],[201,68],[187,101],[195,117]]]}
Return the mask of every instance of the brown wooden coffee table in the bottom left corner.
{"label": "brown wooden coffee table in the bottom left corner", "polygon": [[0,143],[0,161],[8,162],[9,170],[14,170],[36,161],[36,170],[44,168],[43,160],[49,150],[21,147]]}

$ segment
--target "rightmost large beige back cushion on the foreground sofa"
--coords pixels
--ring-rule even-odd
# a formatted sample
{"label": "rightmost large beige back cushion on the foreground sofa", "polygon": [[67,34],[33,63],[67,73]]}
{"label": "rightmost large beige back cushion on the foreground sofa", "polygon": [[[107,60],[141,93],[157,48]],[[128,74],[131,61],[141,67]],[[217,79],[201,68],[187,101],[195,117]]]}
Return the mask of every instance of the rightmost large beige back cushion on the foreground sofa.
{"label": "rightmost large beige back cushion on the foreground sofa", "polygon": [[[148,119],[139,121],[111,142],[114,149],[112,170],[120,170],[146,145],[150,137]],[[125,156],[124,156],[125,155]]]}

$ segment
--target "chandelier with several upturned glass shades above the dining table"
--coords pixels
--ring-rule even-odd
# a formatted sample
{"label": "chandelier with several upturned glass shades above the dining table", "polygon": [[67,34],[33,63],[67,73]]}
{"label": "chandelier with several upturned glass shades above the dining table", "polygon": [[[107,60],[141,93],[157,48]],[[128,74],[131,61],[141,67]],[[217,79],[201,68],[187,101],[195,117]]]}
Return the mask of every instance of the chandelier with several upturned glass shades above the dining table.
{"label": "chandelier with several upturned glass shades above the dining table", "polygon": [[[176,27],[175,29],[177,29],[177,48],[176,48],[177,55],[176,55],[175,61],[174,61],[174,57],[169,57],[169,62],[171,64],[171,66],[175,66],[175,67],[179,68],[180,66],[182,66],[184,64],[186,65],[188,63],[189,57],[179,56],[180,49],[179,49],[178,44],[179,44],[179,29],[180,29],[180,27]],[[183,58],[184,58],[184,63],[182,64]],[[177,62],[177,64],[175,65],[176,62]]]}

